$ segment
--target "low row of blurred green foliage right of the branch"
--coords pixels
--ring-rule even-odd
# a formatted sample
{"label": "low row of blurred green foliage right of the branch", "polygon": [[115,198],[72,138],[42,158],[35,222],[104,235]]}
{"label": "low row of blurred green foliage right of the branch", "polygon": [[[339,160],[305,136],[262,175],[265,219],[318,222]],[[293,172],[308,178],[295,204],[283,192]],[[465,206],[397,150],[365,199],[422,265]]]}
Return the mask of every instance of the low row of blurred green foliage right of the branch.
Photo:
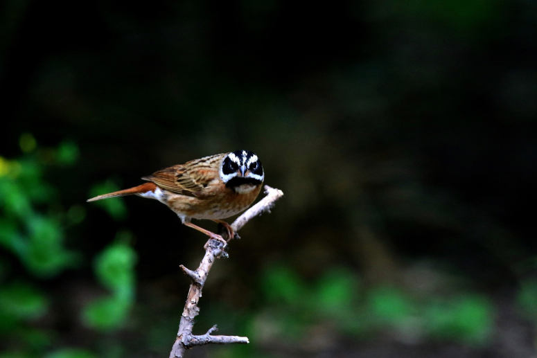
{"label": "low row of blurred green foliage right of the branch", "polygon": [[267,269],[261,283],[266,308],[254,314],[254,321],[261,322],[259,315],[268,317],[274,327],[254,324],[249,332],[254,336],[273,332],[285,341],[290,334],[305,337],[312,327],[332,322],[330,330],[353,337],[393,328],[421,338],[480,345],[490,338],[494,324],[495,307],[483,295],[419,297],[394,286],[364,287],[349,269],[328,269],[316,282],[307,283],[280,265]]}

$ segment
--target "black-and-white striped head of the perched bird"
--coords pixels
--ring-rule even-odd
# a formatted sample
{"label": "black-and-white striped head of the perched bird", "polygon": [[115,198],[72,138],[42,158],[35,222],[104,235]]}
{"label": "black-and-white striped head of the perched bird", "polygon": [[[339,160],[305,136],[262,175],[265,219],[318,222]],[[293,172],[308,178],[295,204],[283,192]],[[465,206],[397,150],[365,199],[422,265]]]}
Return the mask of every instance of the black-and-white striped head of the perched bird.
{"label": "black-and-white striped head of the perched bird", "polygon": [[259,184],[265,179],[263,165],[258,156],[248,150],[236,150],[227,154],[220,166],[220,178],[224,183],[228,183],[233,178],[237,183]]}

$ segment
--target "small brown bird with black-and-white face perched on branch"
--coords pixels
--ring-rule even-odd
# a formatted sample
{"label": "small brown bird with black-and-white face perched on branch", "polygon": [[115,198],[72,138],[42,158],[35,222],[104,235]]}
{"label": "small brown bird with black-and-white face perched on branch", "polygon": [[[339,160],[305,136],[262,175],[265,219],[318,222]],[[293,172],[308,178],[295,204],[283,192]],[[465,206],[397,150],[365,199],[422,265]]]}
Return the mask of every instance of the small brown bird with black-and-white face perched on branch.
{"label": "small brown bird with black-and-white face perched on branch", "polygon": [[173,210],[186,226],[226,243],[221,235],[193,224],[191,219],[218,222],[225,226],[228,238],[234,238],[231,225],[222,219],[244,211],[254,202],[261,191],[265,172],[256,154],[236,150],[173,165],[141,179],[148,183],[87,201],[125,195],[157,199]]}

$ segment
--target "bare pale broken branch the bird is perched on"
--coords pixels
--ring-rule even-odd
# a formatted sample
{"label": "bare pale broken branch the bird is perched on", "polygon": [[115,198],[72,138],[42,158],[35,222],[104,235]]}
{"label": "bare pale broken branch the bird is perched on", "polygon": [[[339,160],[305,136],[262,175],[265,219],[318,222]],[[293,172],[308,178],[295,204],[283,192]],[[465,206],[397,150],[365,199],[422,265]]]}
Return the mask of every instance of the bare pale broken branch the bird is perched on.
{"label": "bare pale broken branch the bird is perched on", "polygon": [[[261,213],[265,211],[270,212],[270,208],[274,206],[274,202],[282,196],[283,192],[281,190],[265,185],[265,197],[245,211],[243,215],[240,215],[233,224],[231,224],[231,227],[234,231],[239,231],[247,222],[249,222],[249,220],[252,220],[252,218],[261,215]],[[211,239],[205,245],[205,255],[200,262],[200,266],[197,267],[195,271],[184,267],[184,265],[180,266],[184,274],[191,278],[192,283],[190,289],[188,289],[188,296],[186,297],[186,303],[179,323],[177,338],[175,339],[175,343],[173,343],[170,352],[170,358],[183,358],[184,352],[193,346],[202,346],[209,343],[249,343],[247,337],[214,336],[212,333],[217,330],[216,325],[213,325],[213,327],[205,334],[192,334],[194,319],[200,313],[200,308],[197,307],[197,303],[202,296],[205,280],[207,279],[207,275],[209,275],[209,271],[211,270],[211,267],[213,267],[215,260],[220,256],[227,257],[225,246],[227,245],[223,242]]]}

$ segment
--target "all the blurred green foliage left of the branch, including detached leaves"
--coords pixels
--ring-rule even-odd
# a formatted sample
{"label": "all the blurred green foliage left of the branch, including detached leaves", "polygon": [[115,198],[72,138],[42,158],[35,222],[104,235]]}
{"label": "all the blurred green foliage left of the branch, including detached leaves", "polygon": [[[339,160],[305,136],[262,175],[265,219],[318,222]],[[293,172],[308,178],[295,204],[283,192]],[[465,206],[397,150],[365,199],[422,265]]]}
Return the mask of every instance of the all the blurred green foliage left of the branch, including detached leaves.
{"label": "all the blurred green foliage left of the branch, including detached leaves", "polygon": [[[49,170],[76,162],[77,145],[65,141],[55,149],[43,148],[28,133],[20,136],[19,145],[24,153],[20,158],[0,156],[0,245],[6,249],[0,256],[0,333],[9,337],[12,345],[6,347],[11,350],[0,354],[2,358],[35,357],[36,352],[42,356],[57,339],[46,328],[34,325],[51,313],[53,301],[65,299],[52,296],[44,287],[46,280],[62,271],[80,267],[80,254],[68,249],[65,239],[67,227],[80,224],[85,217],[85,209],[78,204],[58,210],[62,208],[56,195],[59,188],[45,179]],[[116,203],[109,213],[113,217],[125,215],[125,208]],[[129,247],[129,235],[119,233],[116,242],[95,259],[98,281],[112,296],[89,303],[83,310],[85,322],[91,328],[120,327],[132,307],[136,254]],[[17,264],[6,253],[17,258],[30,276],[12,271],[11,267]],[[35,278],[30,279],[31,276]],[[62,305],[55,303],[58,304]],[[62,348],[44,357],[96,356],[83,349]]]}

